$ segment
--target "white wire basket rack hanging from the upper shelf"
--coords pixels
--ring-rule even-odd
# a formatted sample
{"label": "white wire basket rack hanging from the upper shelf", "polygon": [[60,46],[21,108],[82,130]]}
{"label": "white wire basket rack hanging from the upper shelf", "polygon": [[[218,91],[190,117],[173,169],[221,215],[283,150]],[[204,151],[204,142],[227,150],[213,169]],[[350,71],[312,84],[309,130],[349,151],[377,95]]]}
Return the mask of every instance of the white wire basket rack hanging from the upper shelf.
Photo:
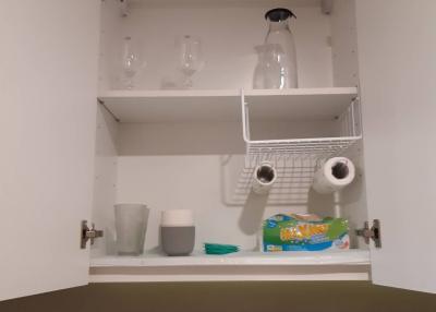
{"label": "white wire basket rack hanging from the upper shelf", "polygon": [[232,202],[243,204],[251,193],[255,168],[271,163],[277,180],[268,193],[269,205],[306,204],[317,168],[330,157],[340,156],[362,139],[359,98],[351,97],[339,116],[339,136],[290,140],[251,140],[250,103],[241,91],[242,130],[246,145],[245,165],[240,175]]}

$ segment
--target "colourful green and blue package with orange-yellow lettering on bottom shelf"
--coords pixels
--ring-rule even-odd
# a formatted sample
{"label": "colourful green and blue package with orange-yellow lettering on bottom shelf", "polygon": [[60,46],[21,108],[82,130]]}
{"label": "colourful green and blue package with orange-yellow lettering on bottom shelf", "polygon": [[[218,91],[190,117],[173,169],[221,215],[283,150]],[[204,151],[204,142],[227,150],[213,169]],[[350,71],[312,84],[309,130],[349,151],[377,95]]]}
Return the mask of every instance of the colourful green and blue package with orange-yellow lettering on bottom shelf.
{"label": "colourful green and blue package with orange-yellow lettering on bottom shelf", "polygon": [[263,224],[263,251],[320,251],[350,248],[349,226],[343,218],[279,214]]}

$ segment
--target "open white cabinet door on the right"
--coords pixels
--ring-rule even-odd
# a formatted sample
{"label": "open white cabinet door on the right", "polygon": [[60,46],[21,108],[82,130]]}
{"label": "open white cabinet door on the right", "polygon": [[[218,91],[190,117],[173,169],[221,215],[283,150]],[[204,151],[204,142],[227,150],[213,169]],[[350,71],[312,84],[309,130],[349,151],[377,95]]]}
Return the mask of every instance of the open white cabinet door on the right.
{"label": "open white cabinet door on the right", "polygon": [[[436,292],[433,0],[359,0],[358,39],[376,284]],[[404,16],[404,19],[402,19]]]}

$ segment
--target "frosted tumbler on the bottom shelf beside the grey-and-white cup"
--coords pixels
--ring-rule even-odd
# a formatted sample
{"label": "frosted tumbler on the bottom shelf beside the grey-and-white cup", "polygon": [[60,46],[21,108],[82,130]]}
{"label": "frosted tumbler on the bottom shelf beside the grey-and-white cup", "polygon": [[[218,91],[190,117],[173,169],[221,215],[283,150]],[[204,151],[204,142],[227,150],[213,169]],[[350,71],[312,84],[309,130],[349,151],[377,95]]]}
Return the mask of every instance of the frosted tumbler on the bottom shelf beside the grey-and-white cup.
{"label": "frosted tumbler on the bottom shelf beside the grey-and-white cup", "polygon": [[118,254],[142,254],[149,209],[142,204],[118,204],[114,207]]}

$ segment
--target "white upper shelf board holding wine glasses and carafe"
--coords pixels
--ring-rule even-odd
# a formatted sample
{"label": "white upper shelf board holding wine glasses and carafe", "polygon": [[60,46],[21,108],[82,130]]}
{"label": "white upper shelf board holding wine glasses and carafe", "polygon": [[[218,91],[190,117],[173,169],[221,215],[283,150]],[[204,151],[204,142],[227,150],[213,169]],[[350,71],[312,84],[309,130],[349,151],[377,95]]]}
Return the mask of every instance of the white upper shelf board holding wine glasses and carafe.
{"label": "white upper shelf board holding wine glasses and carafe", "polygon": [[[253,119],[334,119],[356,97],[356,87],[250,89]],[[120,122],[240,121],[240,89],[109,91],[98,99]]]}

